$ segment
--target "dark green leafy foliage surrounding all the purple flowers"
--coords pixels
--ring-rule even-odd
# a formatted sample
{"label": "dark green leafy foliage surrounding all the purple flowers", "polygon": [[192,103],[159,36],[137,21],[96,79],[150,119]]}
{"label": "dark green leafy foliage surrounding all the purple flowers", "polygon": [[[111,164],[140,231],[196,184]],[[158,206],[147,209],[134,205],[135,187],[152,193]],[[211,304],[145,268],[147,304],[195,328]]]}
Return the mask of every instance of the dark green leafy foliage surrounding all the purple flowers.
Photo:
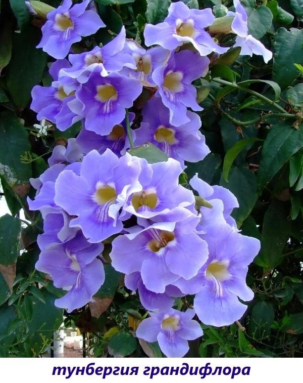
{"label": "dark green leafy foliage surrounding all the purple flowers", "polygon": [[[60,2],[45,3],[57,7]],[[107,28],[83,39],[74,50],[80,52],[109,41],[122,24],[127,37],[144,45],[145,23],[162,21],[170,3],[95,0]],[[191,8],[212,7],[216,17],[223,15],[224,6],[232,6],[229,0],[223,1],[224,5],[221,0],[184,3]],[[247,278],[255,298],[240,324],[204,326],[204,337],[191,342],[188,356],[302,356],[303,1],[242,3],[249,15],[250,33],[273,51],[274,59],[266,65],[258,56],[239,57],[233,50],[227,57],[213,60],[208,76],[196,82],[199,101],[205,108],[200,113],[201,132],[211,154],[201,162],[188,164],[186,173],[189,178],[197,172],[203,180],[230,189],[238,198],[240,207],[233,214],[238,227],[243,234],[262,242]],[[35,84],[50,83],[47,63],[52,60],[35,48],[42,23],[42,19],[29,14],[24,0],[2,0],[0,177],[11,210],[11,215],[0,218],[2,357],[39,356],[63,321],[63,311],[54,306],[62,291],[34,270],[39,254],[36,237],[42,222],[37,213],[28,211],[26,196],[34,195],[29,178],[45,170],[53,147],[66,144],[80,126],[74,125],[66,132],[53,128],[46,138],[38,137],[33,128],[37,121],[29,109],[30,92]],[[232,45],[232,36],[218,37],[226,46]],[[137,102],[136,112],[140,107]],[[19,219],[21,208],[30,224]],[[107,244],[106,259],[109,252]],[[161,357],[157,344],[139,344],[133,336],[146,313],[136,296],[123,287],[121,277],[107,264],[106,282],[96,302],[68,315],[65,325],[76,324],[86,333],[94,356]],[[176,302],[179,309],[190,304],[190,297]]]}

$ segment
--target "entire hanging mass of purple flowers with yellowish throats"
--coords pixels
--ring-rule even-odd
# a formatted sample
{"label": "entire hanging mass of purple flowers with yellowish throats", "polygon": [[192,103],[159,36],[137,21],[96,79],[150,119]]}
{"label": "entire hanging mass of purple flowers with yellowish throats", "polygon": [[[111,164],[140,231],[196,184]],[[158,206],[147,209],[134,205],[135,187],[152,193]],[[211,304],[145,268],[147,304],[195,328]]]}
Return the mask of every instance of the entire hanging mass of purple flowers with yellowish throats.
{"label": "entire hanging mass of purple flowers with yellowish throats", "polygon": [[[245,11],[238,0],[234,4],[228,17],[235,44],[242,54],[258,54]],[[197,175],[186,187],[179,184],[185,161],[209,153],[193,112],[202,110],[193,81],[208,72],[207,55],[228,48],[206,29],[215,21],[210,9],[189,10],[178,2],[163,23],[145,26],[145,45],[153,48],[126,39],[122,27],[107,45],[71,51],[67,60],[74,42],[105,25],[87,6],[88,0],[74,6],[64,0],[47,15],[38,46],[58,60],[49,68],[51,86],[34,87],[31,108],[59,130],[77,121],[82,129],[66,148],[56,146],[49,168],[31,180],[36,196],[28,199],[29,208],[44,220],[36,268],[67,290],[56,305],[71,312],[93,300],[104,283],[103,242],[111,242],[112,266],[150,312],[137,336],[180,357],[187,341],[203,334],[195,314],[205,324],[228,325],[245,312],[239,299],[253,296],[245,278],[260,243],[238,232],[231,217],[236,198]],[[128,112],[143,87],[154,89],[154,96],[139,112]],[[139,126],[131,129],[138,117]],[[132,142],[153,144],[167,161],[148,163],[129,154]],[[175,299],[187,294],[194,295],[194,310],[173,309]]]}

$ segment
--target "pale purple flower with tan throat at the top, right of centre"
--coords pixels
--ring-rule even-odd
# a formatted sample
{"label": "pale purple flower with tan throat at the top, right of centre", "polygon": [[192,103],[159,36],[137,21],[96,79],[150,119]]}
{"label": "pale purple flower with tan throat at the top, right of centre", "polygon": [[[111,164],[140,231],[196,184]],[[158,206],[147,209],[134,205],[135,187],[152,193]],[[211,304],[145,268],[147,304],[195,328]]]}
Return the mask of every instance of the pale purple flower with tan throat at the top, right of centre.
{"label": "pale purple flower with tan throat at the top, right of centre", "polygon": [[206,27],[213,24],[214,20],[215,16],[210,8],[189,9],[182,2],[172,3],[163,23],[145,26],[145,45],[148,47],[158,44],[173,51],[177,47],[191,42],[201,56],[207,56],[212,52],[225,53],[228,48],[217,45],[205,30]]}

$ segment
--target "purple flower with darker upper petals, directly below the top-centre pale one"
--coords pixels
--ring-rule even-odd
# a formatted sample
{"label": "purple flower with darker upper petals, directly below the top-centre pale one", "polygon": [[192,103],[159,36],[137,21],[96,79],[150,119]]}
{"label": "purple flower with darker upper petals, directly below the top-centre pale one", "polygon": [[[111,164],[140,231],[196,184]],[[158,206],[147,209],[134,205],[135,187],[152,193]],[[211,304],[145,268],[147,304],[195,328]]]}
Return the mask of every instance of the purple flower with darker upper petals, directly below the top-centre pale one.
{"label": "purple flower with darker upper petals, directly below the top-centre pale one", "polygon": [[209,63],[208,57],[181,51],[172,55],[166,65],[154,70],[152,77],[159,87],[156,96],[159,95],[169,108],[169,121],[173,126],[190,121],[186,107],[203,110],[196,102],[197,91],[191,82],[206,75]]}

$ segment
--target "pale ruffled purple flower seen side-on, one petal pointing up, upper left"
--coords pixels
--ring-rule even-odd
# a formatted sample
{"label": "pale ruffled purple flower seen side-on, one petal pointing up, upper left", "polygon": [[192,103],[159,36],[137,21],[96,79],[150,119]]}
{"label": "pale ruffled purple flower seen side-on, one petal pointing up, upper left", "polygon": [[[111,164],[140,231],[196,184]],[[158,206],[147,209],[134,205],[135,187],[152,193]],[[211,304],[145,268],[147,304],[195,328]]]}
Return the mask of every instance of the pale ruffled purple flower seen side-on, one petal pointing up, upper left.
{"label": "pale ruffled purple flower seen side-on, one petal pointing up, upper left", "polygon": [[125,27],[104,47],[94,47],[90,52],[71,54],[68,59],[71,68],[62,69],[60,75],[76,78],[80,83],[88,80],[91,72],[107,76],[119,72],[124,66],[135,69],[136,65],[130,54],[121,52],[125,45]]}

